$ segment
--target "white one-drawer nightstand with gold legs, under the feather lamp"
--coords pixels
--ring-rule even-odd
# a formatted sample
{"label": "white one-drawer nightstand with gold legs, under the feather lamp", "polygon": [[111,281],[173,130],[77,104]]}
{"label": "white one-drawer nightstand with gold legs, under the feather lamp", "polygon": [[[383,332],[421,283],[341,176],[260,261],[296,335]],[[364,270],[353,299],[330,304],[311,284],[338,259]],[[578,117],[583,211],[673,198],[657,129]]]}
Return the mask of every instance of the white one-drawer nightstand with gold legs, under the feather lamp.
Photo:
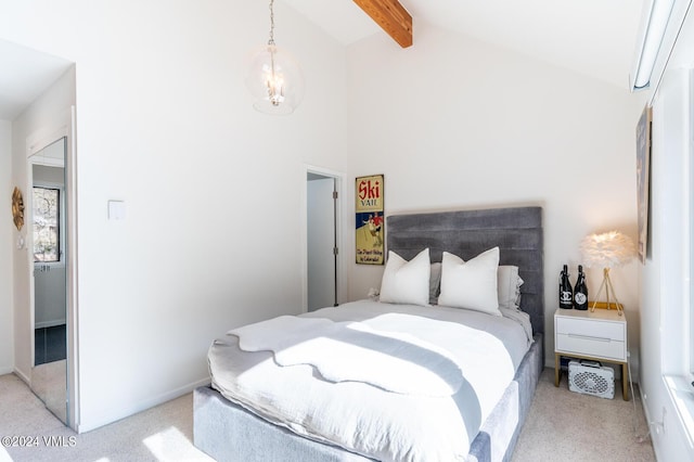
{"label": "white one-drawer nightstand with gold legs, under the feather lamp", "polygon": [[621,394],[629,400],[627,318],[617,310],[557,309],[554,312],[554,385],[560,386],[562,356],[621,365]]}

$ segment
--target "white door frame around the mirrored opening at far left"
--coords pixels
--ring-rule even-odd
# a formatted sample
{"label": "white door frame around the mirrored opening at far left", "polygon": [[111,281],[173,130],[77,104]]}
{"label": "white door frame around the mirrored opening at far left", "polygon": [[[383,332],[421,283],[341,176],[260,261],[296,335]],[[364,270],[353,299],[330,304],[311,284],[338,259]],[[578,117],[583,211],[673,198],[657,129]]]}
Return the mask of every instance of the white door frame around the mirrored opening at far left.
{"label": "white door frame around the mirrored opening at far left", "polygon": [[[27,163],[27,191],[34,185],[34,172],[31,168],[31,156],[56,140],[65,137],[65,209],[67,213],[65,224],[65,279],[66,287],[66,321],[67,321],[67,426],[77,431],[79,426],[79,367],[78,367],[78,306],[77,306],[77,155],[75,139],[75,106],[70,106],[65,112],[59,114],[54,123],[43,127],[26,139],[26,163]],[[28,205],[33,206],[33,194],[27,194]],[[25,245],[29,248],[34,246],[33,235],[26,238]],[[28,270],[34,271],[34,254],[27,252]],[[30,309],[30,348],[31,363],[35,358],[34,346],[34,324],[35,324],[35,287],[34,275],[28,274],[29,280],[29,309]],[[34,367],[31,368],[34,369]],[[30,382],[29,382],[30,383]]]}

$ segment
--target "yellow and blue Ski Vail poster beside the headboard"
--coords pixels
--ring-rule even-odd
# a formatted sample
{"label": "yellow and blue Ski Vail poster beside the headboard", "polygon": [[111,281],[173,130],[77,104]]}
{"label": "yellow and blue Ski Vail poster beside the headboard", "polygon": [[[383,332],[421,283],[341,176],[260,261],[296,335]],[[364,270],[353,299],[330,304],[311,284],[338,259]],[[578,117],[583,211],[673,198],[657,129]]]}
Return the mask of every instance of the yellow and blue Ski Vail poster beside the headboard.
{"label": "yellow and blue Ski Vail poster beside the headboard", "polygon": [[383,175],[357,178],[355,256],[358,264],[383,265],[385,261],[383,193]]}

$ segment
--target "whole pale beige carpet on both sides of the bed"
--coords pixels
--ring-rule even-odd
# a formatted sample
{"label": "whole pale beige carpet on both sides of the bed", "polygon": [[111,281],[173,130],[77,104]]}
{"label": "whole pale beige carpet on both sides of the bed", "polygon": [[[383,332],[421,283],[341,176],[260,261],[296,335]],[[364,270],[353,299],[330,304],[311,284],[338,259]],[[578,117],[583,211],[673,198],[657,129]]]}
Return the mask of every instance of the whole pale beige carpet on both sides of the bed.
{"label": "whole pale beige carpet on both sides of the bed", "polygon": [[[192,444],[192,394],[78,435],[8,374],[0,376],[0,409],[2,462],[211,461]],[[554,371],[545,369],[512,460],[655,461],[650,439],[637,441],[634,425],[645,434],[640,400],[634,414],[632,401],[621,395],[602,399],[571,393],[566,378],[555,387]]]}

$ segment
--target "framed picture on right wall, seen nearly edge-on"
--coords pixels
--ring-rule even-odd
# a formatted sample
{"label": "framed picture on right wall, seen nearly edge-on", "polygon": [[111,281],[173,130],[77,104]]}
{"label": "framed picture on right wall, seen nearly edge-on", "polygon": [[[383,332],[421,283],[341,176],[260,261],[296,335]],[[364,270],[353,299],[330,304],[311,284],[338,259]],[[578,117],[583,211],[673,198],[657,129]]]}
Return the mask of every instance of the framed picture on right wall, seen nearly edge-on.
{"label": "framed picture on right wall, seen nearly edge-on", "polygon": [[648,246],[648,190],[651,176],[652,108],[646,105],[637,125],[637,194],[639,207],[639,259],[646,261]]}

